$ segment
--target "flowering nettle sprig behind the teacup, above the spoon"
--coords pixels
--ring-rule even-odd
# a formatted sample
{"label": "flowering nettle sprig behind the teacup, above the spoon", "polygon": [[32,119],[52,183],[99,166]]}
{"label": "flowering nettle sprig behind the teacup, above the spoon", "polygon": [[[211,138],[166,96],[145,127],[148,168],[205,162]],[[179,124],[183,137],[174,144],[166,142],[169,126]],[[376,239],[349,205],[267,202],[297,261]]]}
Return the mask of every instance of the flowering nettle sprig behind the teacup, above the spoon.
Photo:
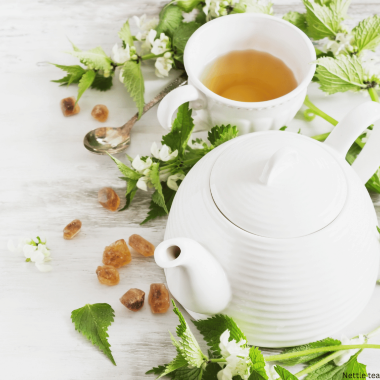
{"label": "flowering nettle sprig behind the teacup, above the spoon", "polygon": [[77,84],[77,102],[89,89],[107,91],[112,87],[116,70],[142,114],[144,106],[144,79],[141,64],[154,60],[157,77],[167,77],[172,68],[184,69],[184,50],[190,36],[205,22],[231,13],[260,12],[273,14],[272,3],[266,0],[183,0],[171,1],[160,12],[159,19],[133,16],[139,28],[134,36],[129,20],[120,29],[121,46],[114,45],[110,55],[102,47],[82,51],[72,44],[67,53],[79,58],[85,66],[54,64],[67,74],[52,82],[60,86]]}

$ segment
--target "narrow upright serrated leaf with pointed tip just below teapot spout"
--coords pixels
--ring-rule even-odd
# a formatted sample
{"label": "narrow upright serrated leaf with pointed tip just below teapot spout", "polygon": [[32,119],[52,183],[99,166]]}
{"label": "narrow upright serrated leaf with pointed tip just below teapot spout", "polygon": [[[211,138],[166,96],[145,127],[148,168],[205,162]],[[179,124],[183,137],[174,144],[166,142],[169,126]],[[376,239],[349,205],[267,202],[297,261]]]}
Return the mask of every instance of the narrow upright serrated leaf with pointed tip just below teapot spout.
{"label": "narrow upright serrated leaf with pointed tip just below teapot spout", "polygon": [[175,344],[177,350],[182,354],[189,365],[193,367],[200,368],[208,360],[206,356],[203,355],[195,336],[192,334],[189,325],[185,321],[184,316],[179,311],[178,307],[172,300],[174,305],[174,313],[178,316],[180,320],[180,325],[177,326],[177,335],[180,340]]}

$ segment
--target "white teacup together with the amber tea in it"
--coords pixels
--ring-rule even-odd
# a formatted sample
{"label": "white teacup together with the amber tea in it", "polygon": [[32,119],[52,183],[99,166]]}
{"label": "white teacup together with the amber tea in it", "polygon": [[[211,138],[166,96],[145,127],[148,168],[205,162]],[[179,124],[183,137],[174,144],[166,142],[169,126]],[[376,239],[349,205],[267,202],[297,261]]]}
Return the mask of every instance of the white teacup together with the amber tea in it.
{"label": "white teacup together with the amber tea in it", "polygon": [[301,107],[316,65],[310,39],[280,18],[238,13],[197,29],[184,53],[188,85],[164,97],[157,116],[170,130],[190,101],[203,126],[236,125],[240,134],[280,129]]}

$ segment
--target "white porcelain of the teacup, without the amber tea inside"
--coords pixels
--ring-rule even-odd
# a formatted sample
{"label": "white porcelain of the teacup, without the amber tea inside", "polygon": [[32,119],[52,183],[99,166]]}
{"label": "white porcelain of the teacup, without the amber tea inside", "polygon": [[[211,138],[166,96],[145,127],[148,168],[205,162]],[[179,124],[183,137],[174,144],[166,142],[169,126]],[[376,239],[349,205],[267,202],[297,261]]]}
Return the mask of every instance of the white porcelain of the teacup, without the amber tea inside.
{"label": "white porcelain of the teacup, without the amber tea inside", "polygon": [[[210,91],[201,82],[205,68],[217,57],[234,50],[265,51],[283,60],[292,70],[298,86],[276,99],[242,102],[227,99]],[[197,29],[190,37],[184,54],[188,85],[180,87],[162,100],[158,121],[170,130],[176,109],[190,101],[204,125],[236,125],[240,134],[279,129],[300,109],[316,65],[315,49],[297,27],[277,17],[259,13],[238,13],[216,18]],[[203,115],[202,115],[203,114]],[[199,127],[199,126],[198,126]]]}

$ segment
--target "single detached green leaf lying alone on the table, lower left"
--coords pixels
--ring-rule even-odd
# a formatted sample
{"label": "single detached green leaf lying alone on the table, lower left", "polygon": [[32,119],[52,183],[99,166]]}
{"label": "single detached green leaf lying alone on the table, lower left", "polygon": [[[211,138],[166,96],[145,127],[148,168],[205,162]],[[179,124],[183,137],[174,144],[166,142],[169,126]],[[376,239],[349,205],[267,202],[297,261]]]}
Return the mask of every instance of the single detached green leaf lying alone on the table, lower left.
{"label": "single detached green leaf lying alone on the table, lower left", "polygon": [[114,310],[107,303],[86,304],[80,309],[71,313],[71,320],[75,325],[75,330],[82,332],[93,344],[98,346],[101,351],[116,366],[113,359],[111,345],[108,343],[107,328],[113,322]]}

